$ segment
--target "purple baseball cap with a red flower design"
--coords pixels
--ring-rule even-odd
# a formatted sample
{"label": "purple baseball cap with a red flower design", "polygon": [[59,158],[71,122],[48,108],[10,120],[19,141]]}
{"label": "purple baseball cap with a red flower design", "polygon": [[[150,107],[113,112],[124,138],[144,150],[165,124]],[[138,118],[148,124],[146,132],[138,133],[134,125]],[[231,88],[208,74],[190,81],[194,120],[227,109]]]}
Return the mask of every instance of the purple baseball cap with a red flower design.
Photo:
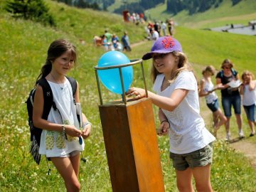
{"label": "purple baseball cap with a red flower design", "polygon": [[151,48],[151,52],[143,55],[143,60],[152,58],[152,53],[171,53],[174,51],[182,52],[181,43],[171,36],[160,37]]}

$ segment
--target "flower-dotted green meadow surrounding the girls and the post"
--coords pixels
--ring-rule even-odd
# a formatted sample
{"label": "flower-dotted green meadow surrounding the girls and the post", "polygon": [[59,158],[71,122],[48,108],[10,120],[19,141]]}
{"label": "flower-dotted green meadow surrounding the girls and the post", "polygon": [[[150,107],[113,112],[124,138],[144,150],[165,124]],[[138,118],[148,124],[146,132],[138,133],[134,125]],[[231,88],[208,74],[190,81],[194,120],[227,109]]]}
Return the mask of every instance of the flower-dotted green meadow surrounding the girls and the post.
{"label": "flower-dotted green meadow surrounding the girls and the post", "polygon": [[[57,26],[50,28],[32,21],[14,19],[2,10],[0,2],[0,191],[65,191],[65,186],[53,164],[49,162],[50,175],[44,157],[38,166],[29,154],[30,134],[27,124],[26,98],[33,87],[41,66],[46,59],[50,42],[57,38],[67,38],[78,49],[78,65],[70,72],[80,84],[82,110],[93,124],[92,134],[85,141],[83,156],[86,163],[80,164],[81,191],[112,191],[107,166],[105,144],[102,136],[99,98],[94,67],[104,53],[102,48],[92,44],[92,36],[104,33],[105,28],[122,36],[128,31],[132,43],[144,40],[143,26],[123,23],[122,17],[89,9],[75,9],[46,1],[56,18]],[[248,69],[256,73],[255,37],[228,33],[200,31],[177,27],[175,37],[181,41],[183,51],[193,65],[196,75],[201,78],[201,70],[206,65],[219,69],[225,58],[231,58],[240,73]],[[81,43],[85,41],[85,44]],[[149,51],[151,41],[135,46],[128,58],[141,58]],[[151,61],[144,62],[147,86],[151,90]],[[139,68],[134,67],[132,86],[142,86]],[[119,97],[102,87],[104,101]],[[218,92],[219,94],[219,92]],[[203,99],[201,114],[206,126],[211,129],[211,115]],[[156,107],[154,107],[156,110]],[[243,114],[245,134],[249,134]],[[155,116],[156,125],[158,124]],[[233,134],[237,134],[235,119],[231,122]],[[224,132],[224,129],[221,130]],[[250,161],[223,141],[220,137],[214,143],[211,180],[215,191],[255,191],[256,171]],[[169,159],[169,139],[157,137],[161,154],[166,191],[177,191],[175,172]],[[256,144],[256,138],[247,139]],[[125,166],[125,165],[124,165]]]}

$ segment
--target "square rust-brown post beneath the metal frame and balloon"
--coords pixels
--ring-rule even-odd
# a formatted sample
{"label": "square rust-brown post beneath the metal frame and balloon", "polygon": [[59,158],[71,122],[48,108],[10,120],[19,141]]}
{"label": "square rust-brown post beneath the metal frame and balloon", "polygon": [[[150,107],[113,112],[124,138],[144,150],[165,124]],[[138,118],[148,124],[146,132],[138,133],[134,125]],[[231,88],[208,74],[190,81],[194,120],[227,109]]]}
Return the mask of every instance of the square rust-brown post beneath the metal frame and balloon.
{"label": "square rust-brown post beneath the metal frame and balloon", "polygon": [[114,192],[161,192],[164,180],[151,100],[100,105]]}

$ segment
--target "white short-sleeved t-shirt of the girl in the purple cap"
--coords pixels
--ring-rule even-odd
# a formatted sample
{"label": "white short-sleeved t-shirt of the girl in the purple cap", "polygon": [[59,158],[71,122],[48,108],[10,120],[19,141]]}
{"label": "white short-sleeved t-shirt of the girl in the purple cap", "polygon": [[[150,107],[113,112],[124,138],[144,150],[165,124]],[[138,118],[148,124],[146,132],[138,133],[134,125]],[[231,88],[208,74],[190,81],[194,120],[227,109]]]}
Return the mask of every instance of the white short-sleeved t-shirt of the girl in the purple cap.
{"label": "white short-sleeved t-shirt of the girl in the purple cap", "polygon": [[193,73],[181,72],[169,87],[161,91],[163,80],[164,74],[157,75],[153,87],[157,95],[170,97],[176,89],[188,90],[188,94],[174,111],[163,110],[170,123],[170,151],[175,154],[186,154],[213,142],[215,137],[208,132],[199,114],[198,87]]}

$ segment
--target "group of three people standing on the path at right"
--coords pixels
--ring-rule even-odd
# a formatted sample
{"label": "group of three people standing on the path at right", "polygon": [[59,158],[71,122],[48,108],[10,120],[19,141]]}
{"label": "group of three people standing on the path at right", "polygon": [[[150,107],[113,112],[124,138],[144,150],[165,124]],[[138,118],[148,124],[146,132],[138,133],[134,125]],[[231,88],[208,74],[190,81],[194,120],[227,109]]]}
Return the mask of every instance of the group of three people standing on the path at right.
{"label": "group of three people standing on the path at right", "polygon": [[[200,82],[199,96],[206,97],[206,104],[213,112],[213,133],[215,134],[215,137],[217,130],[224,124],[226,140],[230,141],[230,118],[232,116],[232,107],[238,125],[238,137],[240,139],[245,137],[245,134],[242,131],[241,104],[244,107],[248,124],[251,129],[249,136],[254,136],[256,126],[256,81],[254,80],[254,75],[246,70],[242,73],[241,82],[238,71],[234,69],[234,65],[229,59],[223,60],[221,70],[215,76],[215,87],[211,81],[211,76],[215,74],[215,68],[211,65],[207,66],[202,74],[203,78]],[[224,114],[220,110],[215,90],[220,90],[221,92],[221,103]]]}

